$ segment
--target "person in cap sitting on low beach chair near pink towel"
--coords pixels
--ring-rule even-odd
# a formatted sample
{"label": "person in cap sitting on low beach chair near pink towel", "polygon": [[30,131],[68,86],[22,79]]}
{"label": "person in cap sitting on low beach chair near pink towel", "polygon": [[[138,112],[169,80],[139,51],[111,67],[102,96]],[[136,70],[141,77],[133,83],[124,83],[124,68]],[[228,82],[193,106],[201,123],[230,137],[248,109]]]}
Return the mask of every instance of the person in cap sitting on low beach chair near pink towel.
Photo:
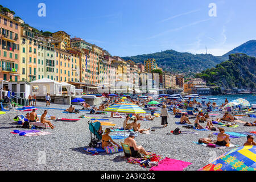
{"label": "person in cap sitting on low beach chair near pink towel", "polygon": [[137,146],[137,143],[135,141],[135,132],[131,131],[128,138],[125,139],[124,144],[129,144],[131,149],[131,154],[126,154],[126,158],[129,158],[130,156],[133,158],[137,157],[138,152],[144,155],[148,155],[149,152],[146,152],[146,150],[142,146]]}

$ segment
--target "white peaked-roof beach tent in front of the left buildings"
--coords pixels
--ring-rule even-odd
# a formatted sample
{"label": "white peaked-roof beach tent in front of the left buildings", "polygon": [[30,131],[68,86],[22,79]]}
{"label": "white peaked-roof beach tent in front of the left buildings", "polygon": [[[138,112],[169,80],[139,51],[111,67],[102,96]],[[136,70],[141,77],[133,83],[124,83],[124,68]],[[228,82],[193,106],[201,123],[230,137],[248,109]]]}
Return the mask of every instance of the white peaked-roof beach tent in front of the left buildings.
{"label": "white peaked-roof beach tent in front of the left buildings", "polygon": [[31,81],[32,87],[37,87],[38,89],[32,94],[36,96],[46,96],[49,93],[51,96],[61,96],[62,86],[60,82],[51,80],[49,78],[42,78],[40,80]]}

